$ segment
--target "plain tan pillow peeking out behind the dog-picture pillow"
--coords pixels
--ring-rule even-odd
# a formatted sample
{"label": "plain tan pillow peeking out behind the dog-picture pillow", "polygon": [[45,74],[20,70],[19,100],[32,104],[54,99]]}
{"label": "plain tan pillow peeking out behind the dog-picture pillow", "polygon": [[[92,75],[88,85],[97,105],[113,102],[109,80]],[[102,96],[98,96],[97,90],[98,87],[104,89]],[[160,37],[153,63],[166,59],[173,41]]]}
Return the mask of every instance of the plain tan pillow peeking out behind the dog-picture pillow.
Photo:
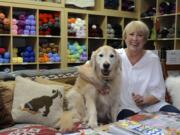
{"label": "plain tan pillow peeking out behind the dog-picture pillow", "polygon": [[44,79],[42,77],[36,77],[35,81],[38,83],[42,83],[42,84],[55,84],[55,85],[60,85],[64,87],[64,91],[69,90],[70,88],[72,88],[72,85],[70,84],[66,84],[66,83],[62,83],[62,82],[57,82],[57,81],[51,81],[48,79]]}

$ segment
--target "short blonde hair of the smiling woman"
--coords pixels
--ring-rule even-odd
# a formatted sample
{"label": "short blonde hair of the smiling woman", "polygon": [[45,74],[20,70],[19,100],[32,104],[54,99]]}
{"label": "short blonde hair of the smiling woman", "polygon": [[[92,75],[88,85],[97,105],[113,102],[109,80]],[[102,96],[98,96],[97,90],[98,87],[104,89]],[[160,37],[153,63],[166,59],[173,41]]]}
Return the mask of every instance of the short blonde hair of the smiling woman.
{"label": "short blonde hair of the smiling woman", "polygon": [[123,38],[125,39],[127,34],[134,32],[134,31],[142,32],[145,40],[147,40],[149,37],[149,28],[144,22],[142,22],[142,21],[131,21],[124,28]]}

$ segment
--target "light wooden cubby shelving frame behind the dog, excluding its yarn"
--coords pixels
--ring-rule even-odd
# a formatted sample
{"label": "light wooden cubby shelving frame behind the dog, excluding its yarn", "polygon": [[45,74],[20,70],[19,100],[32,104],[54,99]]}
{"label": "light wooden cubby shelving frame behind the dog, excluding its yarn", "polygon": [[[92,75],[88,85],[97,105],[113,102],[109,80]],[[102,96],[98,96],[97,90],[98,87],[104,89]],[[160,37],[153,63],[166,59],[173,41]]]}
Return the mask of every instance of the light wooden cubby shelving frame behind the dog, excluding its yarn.
{"label": "light wooden cubby shelving frame behind the dog, excluding its yarn", "polygon": [[[123,1],[123,0],[122,0]],[[22,69],[54,69],[66,68],[69,66],[80,65],[85,60],[69,59],[68,44],[71,42],[78,43],[80,47],[86,51],[87,59],[89,59],[92,51],[104,44],[109,44],[115,48],[122,47],[123,42],[121,35],[119,37],[109,37],[107,32],[108,24],[124,26],[131,20],[138,18],[139,1],[134,1],[134,11],[123,11],[121,8],[122,1],[119,0],[119,7],[117,9],[107,9],[104,7],[104,0],[95,0],[95,6],[92,8],[77,8],[72,5],[66,5],[64,1],[61,3],[40,2],[33,0],[0,0],[0,11],[3,12],[7,18],[11,20],[10,31],[8,33],[0,33],[0,47],[3,47],[10,53],[9,62],[0,63],[1,71],[16,71]],[[133,1],[133,0],[131,0]],[[33,15],[35,17],[35,33],[28,34],[14,34],[13,33],[13,18],[17,18],[20,13],[26,15]],[[40,32],[41,20],[39,19],[42,13],[59,14],[59,33],[57,34],[42,34]],[[56,16],[57,17],[57,16]],[[78,37],[76,35],[68,35],[68,20],[70,18],[80,18],[84,21],[84,36]],[[90,25],[98,25],[102,30],[102,37],[89,36]],[[74,24],[73,24],[74,25]],[[77,28],[78,29],[78,28]],[[56,45],[56,52],[60,56],[59,61],[45,61],[40,60],[43,43],[48,42]],[[17,54],[17,48],[31,46],[34,52],[34,61],[32,62],[14,62],[14,57]],[[48,46],[50,47],[50,46]],[[46,46],[46,48],[48,48]],[[79,46],[78,46],[79,47]],[[76,48],[77,49],[77,48]],[[19,51],[19,50],[18,50]],[[23,52],[23,51],[22,51]],[[80,51],[81,52],[81,51]],[[24,52],[23,52],[24,53]],[[46,54],[48,54],[45,51]],[[85,52],[84,52],[85,53]],[[20,55],[20,51],[18,53]],[[25,54],[26,55],[26,54]],[[28,55],[27,55],[28,56]],[[78,58],[78,56],[73,56]]]}

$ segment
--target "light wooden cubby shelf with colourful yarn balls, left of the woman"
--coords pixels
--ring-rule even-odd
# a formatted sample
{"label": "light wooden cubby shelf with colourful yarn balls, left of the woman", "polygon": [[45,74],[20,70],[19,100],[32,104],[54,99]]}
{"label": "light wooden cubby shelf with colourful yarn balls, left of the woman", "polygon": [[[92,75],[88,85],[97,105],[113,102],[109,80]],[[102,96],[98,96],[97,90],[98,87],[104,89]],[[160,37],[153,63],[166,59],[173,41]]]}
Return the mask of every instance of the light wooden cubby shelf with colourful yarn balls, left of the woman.
{"label": "light wooden cubby shelf with colourful yarn balls, left of the woman", "polygon": [[[72,8],[72,6],[65,5],[64,1],[52,3],[33,0],[1,0],[1,12],[10,20],[10,24],[8,30],[0,31],[0,47],[3,47],[10,57],[5,61],[1,59],[0,72],[67,68],[85,63],[92,51],[102,45],[122,47],[122,30],[127,23],[137,20],[138,2],[130,0],[135,4],[134,11],[131,12],[123,11],[121,8],[123,0],[118,1],[120,5],[117,9],[106,9],[104,0],[95,1],[95,6],[90,8]],[[27,18],[30,20],[24,20]],[[71,18],[79,21],[76,22],[79,23],[79,28],[76,26],[75,29],[82,30],[82,26],[79,26],[80,20],[84,23],[83,36],[68,34],[68,23]],[[117,35],[111,37],[107,31],[108,24],[113,27],[116,25],[116,28],[121,30]],[[97,36],[93,30],[90,30],[92,25],[101,29],[100,35]],[[23,30],[20,30],[22,28]],[[79,51],[79,56],[75,53],[71,62],[68,53],[72,46],[69,44],[74,44],[75,50]],[[70,55],[75,50],[71,50]],[[81,55],[83,57],[80,57]]]}

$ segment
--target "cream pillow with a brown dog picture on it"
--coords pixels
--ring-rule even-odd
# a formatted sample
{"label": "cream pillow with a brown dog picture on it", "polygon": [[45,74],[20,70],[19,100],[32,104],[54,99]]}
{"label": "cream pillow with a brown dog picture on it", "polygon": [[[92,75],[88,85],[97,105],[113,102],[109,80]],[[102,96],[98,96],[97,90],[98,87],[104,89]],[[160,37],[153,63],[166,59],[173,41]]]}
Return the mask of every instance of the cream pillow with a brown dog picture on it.
{"label": "cream pillow with a brown dog picture on it", "polygon": [[56,128],[63,109],[63,87],[16,77],[12,116],[18,123],[44,124]]}

